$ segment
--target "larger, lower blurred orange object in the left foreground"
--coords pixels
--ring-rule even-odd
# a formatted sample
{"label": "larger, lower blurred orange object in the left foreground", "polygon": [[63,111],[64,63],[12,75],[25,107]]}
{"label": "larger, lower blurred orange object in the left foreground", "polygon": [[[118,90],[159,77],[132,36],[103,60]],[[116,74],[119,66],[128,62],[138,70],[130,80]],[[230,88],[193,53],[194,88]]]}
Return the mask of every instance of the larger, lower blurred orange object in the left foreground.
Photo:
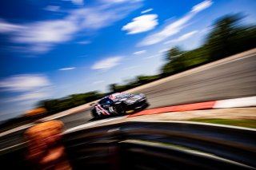
{"label": "larger, lower blurred orange object in the left foreground", "polygon": [[61,144],[63,123],[47,121],[25,132],[28,141],[26,159],[34,169],[70,170],[65,148]]}

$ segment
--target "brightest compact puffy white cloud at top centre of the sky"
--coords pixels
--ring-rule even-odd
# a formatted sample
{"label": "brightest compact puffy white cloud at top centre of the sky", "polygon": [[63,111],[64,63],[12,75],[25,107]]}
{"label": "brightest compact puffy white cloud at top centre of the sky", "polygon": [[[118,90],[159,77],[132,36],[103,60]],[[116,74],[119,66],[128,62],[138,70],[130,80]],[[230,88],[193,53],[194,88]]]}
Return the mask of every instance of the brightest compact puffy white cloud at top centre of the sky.
{"label": "brightest compact puffy white cloud at top centre of the sky", "polygon": [[138,34],[154,29],[158,26],[157,14],[146,14],[140,17],[134,18],[133,22],[126,24],[122,27],[122,30],[127,30],[127,34]]}

